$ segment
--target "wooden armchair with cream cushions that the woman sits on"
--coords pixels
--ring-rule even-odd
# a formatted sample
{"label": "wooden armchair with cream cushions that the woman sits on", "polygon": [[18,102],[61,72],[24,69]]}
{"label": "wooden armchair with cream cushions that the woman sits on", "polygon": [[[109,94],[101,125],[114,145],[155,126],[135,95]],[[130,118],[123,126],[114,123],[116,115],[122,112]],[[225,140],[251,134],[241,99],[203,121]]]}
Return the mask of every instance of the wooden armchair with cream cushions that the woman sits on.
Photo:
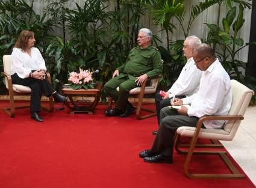
{"label": "wooden armchair with cream cushions that the woman sits on", "polygon": [[[4,55],[3,56],[3,62],[4,62],[4,76],[5,76],[5,86],[9,91],[9,97],[10,97],[10,108],[2,108],[2,110],[10,115],[10,117],[14,117],[15,115],[15,109],[20,108],[28,108],[30,106],[14,106],[14,96],[30,96],[31,89],[28,86],[13,84],[11,82],[11,76],[10,76],[10,67],[11,67],[11,55]],[[48,80],[51,82],[51,76],[49,73],[47,73]],[[54,109],[54,103],[53,103],[53,97],[49,97],[49,108],[45,108],[42,106],[43,109],[45,109],[48,112],[52,112]]]}

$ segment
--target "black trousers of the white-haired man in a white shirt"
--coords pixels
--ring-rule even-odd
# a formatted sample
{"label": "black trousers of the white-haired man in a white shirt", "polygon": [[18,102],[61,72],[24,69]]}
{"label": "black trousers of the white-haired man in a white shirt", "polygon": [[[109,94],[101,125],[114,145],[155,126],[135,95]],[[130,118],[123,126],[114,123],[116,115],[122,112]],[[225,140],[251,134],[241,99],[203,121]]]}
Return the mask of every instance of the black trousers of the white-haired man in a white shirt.
{"label": "black trousers of the white-haired man in a white shirt", "polygon": [[[186,96],[175,96],[175,98],[178,99],[183,99]],[[172,98],[168,98],[168,99],[162,99],[162,97],[160,96],[160,91],[157,92],[155,94],[155,108],[157,109],[157,122],[158,122],[158,126],[160,126],[160,111],[162,108],[166,107],[166,106],[170,106],[170,100]]]}

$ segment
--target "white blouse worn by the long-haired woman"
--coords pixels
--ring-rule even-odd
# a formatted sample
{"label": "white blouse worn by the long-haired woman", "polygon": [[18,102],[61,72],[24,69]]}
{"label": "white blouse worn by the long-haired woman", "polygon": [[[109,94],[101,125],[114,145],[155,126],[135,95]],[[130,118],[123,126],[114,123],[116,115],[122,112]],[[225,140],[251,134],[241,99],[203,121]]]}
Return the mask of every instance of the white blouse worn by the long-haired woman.
{"label": "white blouse worn by the long-haired woman", "polygon": [[45,70],[45,60],[39,49],[31,48],[31,56],[21,49],[14,47],[11,53],[11,75],[17,73],[20,78],[28,77],[31,70]]}

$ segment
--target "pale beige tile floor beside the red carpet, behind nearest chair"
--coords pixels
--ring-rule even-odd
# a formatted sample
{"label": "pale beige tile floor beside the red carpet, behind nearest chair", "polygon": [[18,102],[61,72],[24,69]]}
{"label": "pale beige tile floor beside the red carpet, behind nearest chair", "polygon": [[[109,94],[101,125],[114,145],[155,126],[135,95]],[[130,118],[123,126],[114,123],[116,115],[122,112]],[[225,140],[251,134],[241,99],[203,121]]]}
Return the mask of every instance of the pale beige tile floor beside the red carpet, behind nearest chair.
{"label": "pale beige tile floor beside the red carpet, behind nearest chair", "polygon": [[222,141],[226,150],[256,185],[256,106],[249,106],[233,141]]}

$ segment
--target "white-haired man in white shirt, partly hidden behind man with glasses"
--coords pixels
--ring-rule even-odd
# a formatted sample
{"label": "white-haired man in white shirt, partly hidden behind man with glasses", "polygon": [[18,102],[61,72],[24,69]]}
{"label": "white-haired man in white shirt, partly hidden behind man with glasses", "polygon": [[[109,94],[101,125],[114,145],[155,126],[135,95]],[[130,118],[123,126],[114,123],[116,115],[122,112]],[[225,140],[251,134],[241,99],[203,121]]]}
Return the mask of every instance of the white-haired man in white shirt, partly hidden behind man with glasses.
{"label": "white-haired man in white shirt, partly hidden behind man with glasses", "polygon": [[[196,68],[192,58],[192,50],[194,47],[198,46],[198,44],[201,44],[201,40],[195,35],[186,38],[183,43],[183,53],[187,58],[187,62],[184,65],[180,76],[167,92],[163,92],[163,96],[161,96],[160,92],[155,94],[155,107],[157,109],[158,126],[160,125],[161,109],[166,106],[170,106],[170,100],[174,95],[176,98],[182,99],[184,97],[192,96],[199,89],[202,71]],[[156,135],[157,131],[155,130],[152,134]]]}

